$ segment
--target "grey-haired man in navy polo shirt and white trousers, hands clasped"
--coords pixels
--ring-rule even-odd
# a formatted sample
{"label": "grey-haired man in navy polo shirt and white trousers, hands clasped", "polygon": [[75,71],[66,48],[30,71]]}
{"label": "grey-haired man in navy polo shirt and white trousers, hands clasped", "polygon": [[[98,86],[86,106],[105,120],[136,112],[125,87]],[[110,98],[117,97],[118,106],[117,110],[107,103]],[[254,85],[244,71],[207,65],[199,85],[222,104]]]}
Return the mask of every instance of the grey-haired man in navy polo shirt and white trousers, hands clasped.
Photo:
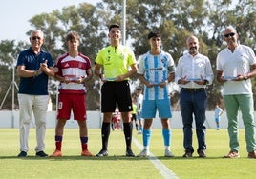
{"label": "grey-haired man in navy polo shirt and white trousers, hands clasped", "polygon": [[17,75],[20,77],[18,101],[20,124],[20,153],[26,157],[29,151],[29,131],[32,112],[35,118],[36,142],[35,155],[48,156],[44,152],[46,113],[48,108],[48,76],[53,76],[53,57],[41,50],[44,34],[41,30],[32,30],[31,47],[20,52],[17,60]]}

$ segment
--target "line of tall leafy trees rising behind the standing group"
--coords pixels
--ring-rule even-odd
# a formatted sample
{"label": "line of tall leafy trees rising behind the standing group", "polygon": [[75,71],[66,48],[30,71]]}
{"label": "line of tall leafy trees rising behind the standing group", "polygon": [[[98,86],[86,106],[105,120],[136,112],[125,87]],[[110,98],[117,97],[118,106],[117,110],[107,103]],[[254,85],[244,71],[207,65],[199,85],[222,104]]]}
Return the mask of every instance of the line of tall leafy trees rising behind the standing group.
{"label": "line of tall leafy trees rising behind the standing group", "polygon": [[[94,64],[97,51],[109,43],[108,26],[111,23],[122,24],[121,3],[121,0],[102,0],[96,7],[81,3],[78,7],[64,7],[62,10],[35,15],[30,22],[33,29],[45,32],[46,42],[43,48],[49,50],[53,58],[66,51],[66,33],[70,30],[77,31],[82,39],[80,51],[88,55]],[[162,49],[171,53],[175,63],[186,51],[186,38],[191,34],[196,35],[201,44],[200,52],[209,57],[214,73],[217,53],[225,48],[223,30],[226,26],[234,26],[239,33],[240,42],[256,50],[255,0],[127,0],[126,3],[125,38],[137,58],[149,50],[149,30],[160,30]],[[6,55],[11,52],[12,56],[16,56],[24,49],[25,43],[6,43],[1,42],[0,54],[1,59],[5,59],[1,65],[8,69],[8,65],[3,63],[9,63],[11,59]],[[4,50],[7,47],[10,49]],[[139,84],[138,75],[133,76],[132,80],[133,84]],[[253,79],[252,83],[253,91],[256,91],[256,80]],[[2,86],[1,83],[0,85]],[[95,76],[88,84],[88,109],[99,109],[99,87]],[[208,109],[214,109],[216,103],[221,103],[221,89],[217,80],[207,89]],[[174,96],[174,101],[178,101],[179,96]]]}

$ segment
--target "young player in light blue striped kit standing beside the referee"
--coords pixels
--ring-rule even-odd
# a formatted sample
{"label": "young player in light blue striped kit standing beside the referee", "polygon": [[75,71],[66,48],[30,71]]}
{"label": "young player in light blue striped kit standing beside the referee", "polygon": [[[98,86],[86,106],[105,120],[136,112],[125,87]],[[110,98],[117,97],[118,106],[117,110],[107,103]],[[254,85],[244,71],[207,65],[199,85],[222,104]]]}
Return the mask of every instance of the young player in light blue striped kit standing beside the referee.
{"label": "young player in light blue striped kit standing beside the referee", "polygon": [[139,59],[139,80],[144,84],[144,98],[141,117],[144,119],[143,146],[139,157],[150,155],[151,125],[157,109],[162,125],[164,156],[173,157],[170,150],[171,127],[169,118],[172,117],[168,83],[175,77],[175,66],[172,56],[161,50],[161,35],[159,31],[148,34],[150,51]]}

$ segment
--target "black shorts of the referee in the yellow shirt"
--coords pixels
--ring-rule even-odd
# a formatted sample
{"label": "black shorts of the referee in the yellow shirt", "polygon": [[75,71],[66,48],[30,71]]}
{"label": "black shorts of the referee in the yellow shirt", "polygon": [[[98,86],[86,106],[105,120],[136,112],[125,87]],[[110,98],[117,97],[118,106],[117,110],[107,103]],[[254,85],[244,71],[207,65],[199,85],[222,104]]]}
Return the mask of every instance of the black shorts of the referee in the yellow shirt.
{"label": "black shorts of the referee in the yellow shirt", "polygon": [[132,111],[132,97],[127,80],[122,82],[105,82],[101,88],[101,112]]}

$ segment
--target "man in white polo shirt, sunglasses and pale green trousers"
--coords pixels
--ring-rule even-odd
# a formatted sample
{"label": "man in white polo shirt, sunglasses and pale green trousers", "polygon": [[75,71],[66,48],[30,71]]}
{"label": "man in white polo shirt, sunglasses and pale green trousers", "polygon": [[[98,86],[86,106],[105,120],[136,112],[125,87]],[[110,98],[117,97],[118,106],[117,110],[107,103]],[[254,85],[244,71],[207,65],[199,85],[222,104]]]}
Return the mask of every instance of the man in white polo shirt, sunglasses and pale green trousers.
{"label": "man in white polo shirt, sunglasses and pale green trousers", "polygon": [[239,157],[238,110],[245,125],[245,141],[249,158],[256,158],[254,101],[250,78],[256,76],[253,50],[238,44],[238,34],[232,27],[224,30],[227,48],[217,56],[217,80],[224,85],[224,102],[228,119],[230,151],[224,158]]}

